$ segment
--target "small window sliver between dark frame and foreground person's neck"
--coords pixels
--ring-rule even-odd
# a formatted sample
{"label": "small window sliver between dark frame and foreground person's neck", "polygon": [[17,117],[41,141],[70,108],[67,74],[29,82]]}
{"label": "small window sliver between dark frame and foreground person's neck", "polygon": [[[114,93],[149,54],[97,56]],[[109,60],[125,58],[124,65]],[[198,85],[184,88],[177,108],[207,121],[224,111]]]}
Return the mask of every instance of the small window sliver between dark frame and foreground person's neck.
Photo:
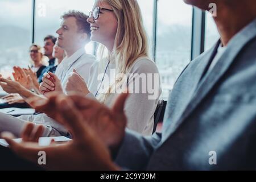
{"label": "small window sliver between dark frame and foreground person's neck", "polygon": [[220,39],[220,35],[218,34],[216,24],[214,23],[212,15],[207,13],[205,22],[205,51],[211,48],[218,39]]}

